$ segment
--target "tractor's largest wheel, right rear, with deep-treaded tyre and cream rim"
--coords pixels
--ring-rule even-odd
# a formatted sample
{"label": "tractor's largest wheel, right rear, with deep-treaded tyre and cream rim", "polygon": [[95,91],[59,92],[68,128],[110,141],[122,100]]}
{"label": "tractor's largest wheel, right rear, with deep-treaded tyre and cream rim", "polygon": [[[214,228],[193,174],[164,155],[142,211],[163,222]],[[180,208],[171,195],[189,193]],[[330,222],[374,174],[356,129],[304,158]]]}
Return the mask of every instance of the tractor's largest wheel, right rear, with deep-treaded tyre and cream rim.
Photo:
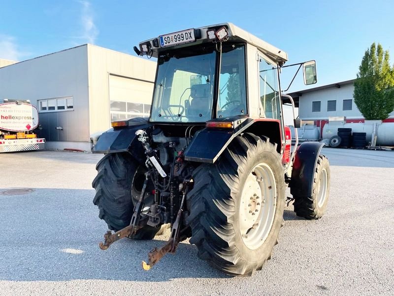
{"label": "tractor's largest wheel, right rear, with deep-treaded tyre and cream rim", "polygon": [[198,257],[230,275],[261,270],[284,223],[284,172],[276,144],[238,136],[215,164],[200,165],[193,180],[187,222]]}

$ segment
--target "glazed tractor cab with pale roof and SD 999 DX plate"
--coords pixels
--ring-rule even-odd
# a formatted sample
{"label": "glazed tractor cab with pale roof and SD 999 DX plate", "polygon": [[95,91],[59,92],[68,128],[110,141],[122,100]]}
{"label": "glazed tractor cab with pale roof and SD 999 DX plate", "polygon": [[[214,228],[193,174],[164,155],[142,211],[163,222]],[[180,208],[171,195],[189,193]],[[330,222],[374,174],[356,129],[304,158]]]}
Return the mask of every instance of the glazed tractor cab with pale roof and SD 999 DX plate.
{"label": "glazed tractor cab with pale roof and SD 999 DX plate", "polygon": [[134,50],[158,59],[150,122],[281,119],[277,69],[287,54],[230,23],[162,35]]}

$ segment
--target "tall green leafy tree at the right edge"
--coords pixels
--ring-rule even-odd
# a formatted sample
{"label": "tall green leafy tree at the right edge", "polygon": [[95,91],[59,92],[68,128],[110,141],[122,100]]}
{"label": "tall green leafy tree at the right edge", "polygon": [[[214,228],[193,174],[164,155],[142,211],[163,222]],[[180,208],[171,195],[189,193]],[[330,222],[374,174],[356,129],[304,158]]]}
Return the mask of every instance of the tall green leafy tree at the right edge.
{"label": "tall green leafy tree at the right edge", "polygon": [[353,97],[365,119],[383,120],[394,111],[394,67],[389,59],[389,51],[375,43],[362,58]]}

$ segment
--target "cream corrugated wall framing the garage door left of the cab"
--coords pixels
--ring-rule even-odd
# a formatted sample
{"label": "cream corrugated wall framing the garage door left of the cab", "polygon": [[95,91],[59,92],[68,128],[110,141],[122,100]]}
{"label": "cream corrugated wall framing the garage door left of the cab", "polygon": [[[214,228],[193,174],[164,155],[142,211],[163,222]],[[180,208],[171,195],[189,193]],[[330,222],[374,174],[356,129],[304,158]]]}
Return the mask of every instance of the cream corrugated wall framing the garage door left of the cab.
{"label": "cream corrugated wall framing the garage door left of the cab", "polygon": [[[154,82],[156,62],[88,44],[90,133],[110,127],[109,75]],[[151,104],[153,83],[146,83],[146,104]],[[150,95],[146,95],[146,93]]]}

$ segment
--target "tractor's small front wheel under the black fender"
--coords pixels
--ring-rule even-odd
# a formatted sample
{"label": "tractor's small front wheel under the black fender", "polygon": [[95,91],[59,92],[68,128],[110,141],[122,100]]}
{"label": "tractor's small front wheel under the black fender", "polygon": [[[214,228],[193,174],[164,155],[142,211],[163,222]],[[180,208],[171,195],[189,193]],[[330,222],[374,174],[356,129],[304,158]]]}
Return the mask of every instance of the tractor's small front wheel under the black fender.
{"label": "tractor's small front wheel under the black fender", "polygon": [[294,211],[299,217],[305,219],[319,219],[327,208],[329,195],[329,163],[328,158],[319,155],[313,180],[312,196],[293,196]]}

